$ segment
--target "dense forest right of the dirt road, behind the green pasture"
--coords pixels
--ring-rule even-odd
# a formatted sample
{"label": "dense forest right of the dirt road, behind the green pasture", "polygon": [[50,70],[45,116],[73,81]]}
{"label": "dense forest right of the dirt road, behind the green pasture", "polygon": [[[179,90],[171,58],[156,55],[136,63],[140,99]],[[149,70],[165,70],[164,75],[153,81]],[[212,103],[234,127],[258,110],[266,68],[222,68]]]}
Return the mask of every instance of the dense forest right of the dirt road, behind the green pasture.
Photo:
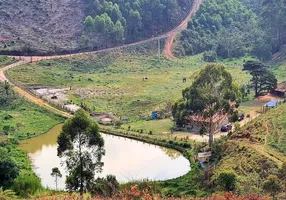
{"label": "dense forest right of the dirt road, behind the green pasture", "polygon": [[253,55],[268,60],[286,42],[283,0],[206,0],[183,31],[177,55],[206,61]]}

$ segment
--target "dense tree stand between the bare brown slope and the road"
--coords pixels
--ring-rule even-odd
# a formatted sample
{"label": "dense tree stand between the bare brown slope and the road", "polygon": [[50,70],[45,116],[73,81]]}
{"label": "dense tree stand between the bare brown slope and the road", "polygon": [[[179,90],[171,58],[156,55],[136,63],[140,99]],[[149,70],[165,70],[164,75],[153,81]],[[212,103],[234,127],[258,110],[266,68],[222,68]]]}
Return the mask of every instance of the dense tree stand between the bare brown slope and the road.
{"label": "dense tree stand between the bare brown slope and the road", "polygon": [[85,0],[82,43],[98,49],[110,45],[106,41],[116,45],[156,36],[178,24],[191,6],[192,0]]}

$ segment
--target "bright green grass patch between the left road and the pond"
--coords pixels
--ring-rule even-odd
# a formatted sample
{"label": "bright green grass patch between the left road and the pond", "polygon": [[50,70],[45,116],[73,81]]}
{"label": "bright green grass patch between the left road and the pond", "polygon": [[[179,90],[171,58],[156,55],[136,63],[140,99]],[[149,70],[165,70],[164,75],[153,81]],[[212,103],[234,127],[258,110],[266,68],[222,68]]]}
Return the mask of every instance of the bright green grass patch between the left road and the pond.
{"label": "bright green grass patch between the left road and the pond", "polygon": [[[0,135],[16,139],[26,139],[47,132],[64,119],[52,112],[27,102],[11,93],[7,103],[3,103],[5,94],[0,86]],[[6,137],[6,136],[5,136]]]}

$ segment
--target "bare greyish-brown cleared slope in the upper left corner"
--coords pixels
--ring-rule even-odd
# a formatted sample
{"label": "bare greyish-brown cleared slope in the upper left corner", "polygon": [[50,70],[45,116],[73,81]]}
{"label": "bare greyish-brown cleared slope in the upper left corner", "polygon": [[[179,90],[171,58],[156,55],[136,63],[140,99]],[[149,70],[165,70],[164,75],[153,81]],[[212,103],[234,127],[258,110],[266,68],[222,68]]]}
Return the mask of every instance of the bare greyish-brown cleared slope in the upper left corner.
{"label": "bare greyish-brown cleared slope in the upper left corner", "polygon": [[0,1],[0,52],[54,53],[78,48],[82,0]]}

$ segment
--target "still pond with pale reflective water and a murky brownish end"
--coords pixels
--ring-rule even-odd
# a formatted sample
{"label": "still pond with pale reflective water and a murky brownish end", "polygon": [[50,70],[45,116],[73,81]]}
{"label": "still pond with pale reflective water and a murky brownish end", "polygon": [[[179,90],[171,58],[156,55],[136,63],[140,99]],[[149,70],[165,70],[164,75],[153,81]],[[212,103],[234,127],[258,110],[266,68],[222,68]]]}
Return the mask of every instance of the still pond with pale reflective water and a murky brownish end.
{"label": "still pond with pale reflective water and a murky brownish end", "polygon": [[[58,188],[65,189],[66,172],[57,157],[57,136],[62,125],[57,125],[46,134],[24,140],[20,148],[32,161],[35,173],[44,187],[55,188],[52,168],[58,167],[63,177]],[[102,134],[106,155],[103,157],[103,172],[96,176],[113,174],[120,183],[149,179],[167,180],[186,174],[190,170],[189,161],[175,150],[155,146],[136,140]]]}

